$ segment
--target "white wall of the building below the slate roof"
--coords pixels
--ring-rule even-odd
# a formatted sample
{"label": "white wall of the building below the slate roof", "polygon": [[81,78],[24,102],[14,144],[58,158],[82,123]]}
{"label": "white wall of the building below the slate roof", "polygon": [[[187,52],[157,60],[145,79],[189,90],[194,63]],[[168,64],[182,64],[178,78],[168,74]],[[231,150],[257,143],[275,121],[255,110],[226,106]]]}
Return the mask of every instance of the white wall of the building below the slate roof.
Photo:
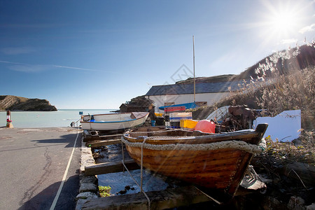
{"label": "white wall of the building below the slate roof", "polygon": [[[207,102],[207,106],[211,106],[229,94],[229,92],[198,93],[196,94],[196,102]],[[146,98],[154,101],[155,112],[162,112],[159,110],[159,107],[165,106],[167,102],[175,102],[175,104],[194,102],[194,94],[153,95],[150,97],[146,96]]]}

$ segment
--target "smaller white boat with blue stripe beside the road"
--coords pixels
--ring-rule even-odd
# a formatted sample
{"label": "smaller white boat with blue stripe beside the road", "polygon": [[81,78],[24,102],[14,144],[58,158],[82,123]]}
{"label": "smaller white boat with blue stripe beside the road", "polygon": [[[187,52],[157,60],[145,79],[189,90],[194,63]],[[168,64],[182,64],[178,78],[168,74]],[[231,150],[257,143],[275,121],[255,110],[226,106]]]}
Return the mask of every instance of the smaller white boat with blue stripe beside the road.
{"label": "smaller white boat with blue stripe beside the road", "polygon": [[82,116],[80,123],[83,130],[126,130],[137,127],[148,118],[148,112],[107,113]]}

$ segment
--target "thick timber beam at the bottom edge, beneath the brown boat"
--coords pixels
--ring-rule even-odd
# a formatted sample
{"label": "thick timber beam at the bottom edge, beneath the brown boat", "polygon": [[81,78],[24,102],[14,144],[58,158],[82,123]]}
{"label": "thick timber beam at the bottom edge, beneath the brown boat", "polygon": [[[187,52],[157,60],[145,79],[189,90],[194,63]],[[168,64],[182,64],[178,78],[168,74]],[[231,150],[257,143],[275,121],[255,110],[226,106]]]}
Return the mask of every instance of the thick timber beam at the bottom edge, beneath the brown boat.
{"label": "thick timber beam at the bottom edge, beneath the brown boat", "polygon": [[[151,201],[151,209],[172,209],[190,204],[209,202],[211,199],[193,186],[172,188],[146,193]],[[144,193],[98,197],[88,200],[82,209],[148,209],[148,200]]]}

